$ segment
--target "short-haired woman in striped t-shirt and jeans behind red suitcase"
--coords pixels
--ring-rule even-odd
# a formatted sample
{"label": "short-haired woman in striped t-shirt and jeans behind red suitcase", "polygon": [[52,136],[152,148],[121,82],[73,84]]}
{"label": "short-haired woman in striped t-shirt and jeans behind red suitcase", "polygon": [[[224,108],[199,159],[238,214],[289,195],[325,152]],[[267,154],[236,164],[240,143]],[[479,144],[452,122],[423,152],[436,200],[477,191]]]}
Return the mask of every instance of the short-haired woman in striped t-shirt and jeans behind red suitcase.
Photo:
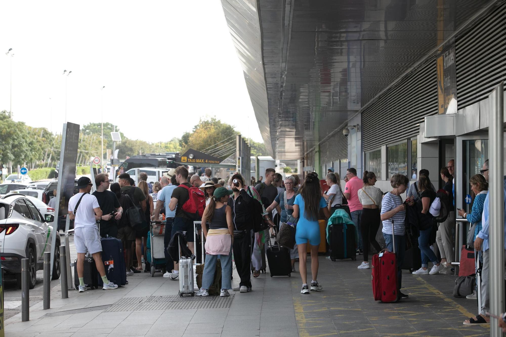
{"label": "short-haired woman in striped t-shirt and jeans behind red suitcase", "polygon": [[[406,247],[406,237],[404,236],[406,232],[406,206],[402,202],[400,195],[406,191],[408,183],[409,180],[406,176],[400,174],[393,175],[392,178],[390,178],[392,191],[385,194],[381,206],[383,237],[385,237],[388,250],[395,252],[397,258],[397,280],[401,299],[406,299],[408,296],[400,291],[402,280],[401,266],[404,262],[404,251]],[[394,233],[392,233],[392,229]],[[393,247],[394,241],[395,250]]]}

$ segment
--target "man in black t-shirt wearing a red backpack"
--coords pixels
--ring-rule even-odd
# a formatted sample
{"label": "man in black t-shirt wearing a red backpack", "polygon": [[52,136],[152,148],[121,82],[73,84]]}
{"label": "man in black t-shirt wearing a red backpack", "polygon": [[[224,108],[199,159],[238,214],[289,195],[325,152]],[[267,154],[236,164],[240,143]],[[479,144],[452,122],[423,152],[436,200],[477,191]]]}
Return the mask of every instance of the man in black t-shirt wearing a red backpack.
{"label": "man in black t-shirt wearing a red backpack", "polygon": [[[176,168],[176,181],[180,186],[176,187],[172,192],[171,202],[168,204],[168,208],[173,211],[176,209],[176,216],[174,217],[174,223],[172,225],[171,238],[178,231],[186,232],[186,240],[188,241],[188,248],[194,254],[193,244],[193,220],[183,210],[183,205],[188,201],[189,194],[188,190],[181,185],[187,187],[193,187],[188,183],[188,170],[185,166],[179,166]],[[171,280],[179,279],[179,263],[174,261],[174,272],[168,277]]]}

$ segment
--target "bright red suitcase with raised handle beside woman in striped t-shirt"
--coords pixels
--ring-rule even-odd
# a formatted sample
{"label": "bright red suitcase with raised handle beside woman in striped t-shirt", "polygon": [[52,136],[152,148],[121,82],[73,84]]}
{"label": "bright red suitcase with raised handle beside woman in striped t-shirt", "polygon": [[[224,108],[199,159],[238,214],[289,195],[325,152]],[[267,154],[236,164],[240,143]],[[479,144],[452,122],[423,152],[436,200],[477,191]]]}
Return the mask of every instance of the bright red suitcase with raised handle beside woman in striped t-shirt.
{"label": "bright red suitcase with raised handle beside woman in striped t-shirt", "polygon": [[[392,221],[392,233],[394,233]],[[397,258],[394,252],[380,252],[372,257],[372,293],[375,301],[399,302],[399,286],[397,281]]]}

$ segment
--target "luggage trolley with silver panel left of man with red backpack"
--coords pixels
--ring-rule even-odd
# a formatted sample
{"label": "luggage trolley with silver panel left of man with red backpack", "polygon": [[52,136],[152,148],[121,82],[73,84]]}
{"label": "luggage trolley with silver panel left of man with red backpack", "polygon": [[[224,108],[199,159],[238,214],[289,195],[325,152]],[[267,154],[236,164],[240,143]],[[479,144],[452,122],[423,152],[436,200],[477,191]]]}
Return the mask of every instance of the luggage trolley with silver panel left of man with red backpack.
{"label": "luggage trolley with silver panel left of man with red backpack", "polygon": [[[151,268],[151,277],[155,276],[155,272],[165,272],[165,245],[163,239],[165,236],[166,220],[161,222],[150,221],[149,223],[149,237],[147,242],[147,253]],[[161,268],[159,268],[161,266]],[[158,267],[158,268],[157,268]]]}

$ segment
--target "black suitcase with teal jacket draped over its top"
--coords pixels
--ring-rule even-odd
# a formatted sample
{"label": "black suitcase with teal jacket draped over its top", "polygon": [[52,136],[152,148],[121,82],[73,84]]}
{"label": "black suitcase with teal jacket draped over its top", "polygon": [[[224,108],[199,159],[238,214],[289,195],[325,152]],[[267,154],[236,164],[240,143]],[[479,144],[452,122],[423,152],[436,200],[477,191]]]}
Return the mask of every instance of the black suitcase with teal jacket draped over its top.
{"label": "black suitcase with teal jacket draped over its top", "polygon": [[328,227],[329,255],[332,261],[357,260],[355,252],[355,226],[333,224]]}

